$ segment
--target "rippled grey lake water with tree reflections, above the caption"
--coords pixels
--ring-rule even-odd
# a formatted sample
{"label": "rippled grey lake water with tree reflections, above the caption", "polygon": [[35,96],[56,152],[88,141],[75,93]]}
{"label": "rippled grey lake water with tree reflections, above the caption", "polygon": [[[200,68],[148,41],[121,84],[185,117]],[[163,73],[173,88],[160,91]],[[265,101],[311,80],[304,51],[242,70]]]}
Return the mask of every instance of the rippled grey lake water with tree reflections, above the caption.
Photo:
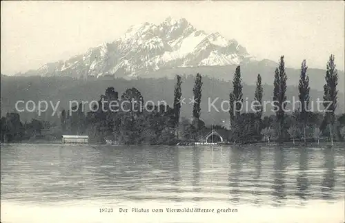
{"label": "rippled grey lake water with tree reflections, above the caption", "polygon": [[344,199],[342,149],[1,146],[1,200]]}

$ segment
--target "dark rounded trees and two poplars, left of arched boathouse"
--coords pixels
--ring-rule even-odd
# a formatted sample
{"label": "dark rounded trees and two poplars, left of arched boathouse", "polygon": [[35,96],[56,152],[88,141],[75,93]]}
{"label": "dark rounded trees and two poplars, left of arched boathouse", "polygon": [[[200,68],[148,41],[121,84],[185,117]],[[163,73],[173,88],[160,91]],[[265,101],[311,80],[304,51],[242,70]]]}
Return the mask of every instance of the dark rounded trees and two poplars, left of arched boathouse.
{"label": "dark rounded trees and two poplars, left of arched boathouse", "polygon": [[[199,129],[204,127],[204,122],[199,120],[201,100],[201,75],[195,78],[193,94],[193,117],[196,122],[188,125],[181,134],[179,127],[179,115],[181,110],[181,76],[177,76],[174,89],[174,103],[170,107],[166,104],[147,105],[145,109],[144,98],[135,87],[126,89],[118,96],[114,87],[108,87],[102,94],[98,106],[85,115],[81,110],[82,105],[73,107],[71,111],[61,112],[61,129],[63,134],[87,134],[91,142],[104,143],[106,140],[127,145],[175,145],[179,138],[193,138],[197,140]],[[134,102],[124,104],[117,111],[111,109],[110,102]],[[70,115],[69,115],[70,114]]]}

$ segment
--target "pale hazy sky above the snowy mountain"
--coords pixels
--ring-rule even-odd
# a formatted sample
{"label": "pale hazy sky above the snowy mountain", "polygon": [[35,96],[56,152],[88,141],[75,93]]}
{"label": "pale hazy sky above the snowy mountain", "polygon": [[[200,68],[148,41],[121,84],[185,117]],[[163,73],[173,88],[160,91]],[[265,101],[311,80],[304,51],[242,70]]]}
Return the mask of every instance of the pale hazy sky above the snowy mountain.
{"label": "pale hazy sky above the snowy mountain", "polygon": [[343,1],[1,1],[1,73],[82,54],[130,25],[185,18],[198,30],[236,39],[258,59],[344,70]]}

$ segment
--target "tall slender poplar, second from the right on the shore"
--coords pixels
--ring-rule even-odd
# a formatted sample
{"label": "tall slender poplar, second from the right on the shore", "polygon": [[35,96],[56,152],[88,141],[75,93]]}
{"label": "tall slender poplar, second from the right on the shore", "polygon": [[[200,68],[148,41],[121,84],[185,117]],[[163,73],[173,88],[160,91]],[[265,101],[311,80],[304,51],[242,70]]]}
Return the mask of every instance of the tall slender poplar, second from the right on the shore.
{"label": "tall slender poplar, second from the right on the shore", "polygon": [[306,74],[306,60],[302,61],[301,65],[301,75],[299,78],[299,101],[301,102],[301,107],[299,109],[299,119],[302,124],[303,134],[304,134],[304,145],[306,145],[306,124],[308,122],[308,105],[309,105],[309,77]]}

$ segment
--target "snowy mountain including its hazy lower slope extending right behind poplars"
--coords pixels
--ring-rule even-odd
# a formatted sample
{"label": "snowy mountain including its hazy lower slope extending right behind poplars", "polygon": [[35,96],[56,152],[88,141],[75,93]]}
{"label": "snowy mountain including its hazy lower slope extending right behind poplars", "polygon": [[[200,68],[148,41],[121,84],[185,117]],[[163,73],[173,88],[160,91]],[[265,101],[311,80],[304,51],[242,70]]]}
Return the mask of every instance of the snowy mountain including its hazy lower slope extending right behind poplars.
{"label": "snowy mountain including its hazy lower slope extending right behind poplars", "polygon": [[[322,56],[326,68],[329,55]],[[132,79],[173,78],[176,74],[195,75],[200,72],[204,76],[228,81],[233,78],[235,67],[241,65],[242,79],[247,85],[255,85],[257,74],[262,75],[263,83],[273,85],[278,59],[258,61],[235,39],[225,39],[218,32],[197,30],[186,19],[168,17],[157,25],[133,25],[111,43],[91,47],[84,54],[72,56],[67,61],[46,63],[37,70],[17,76],[68,76],[81,79],[112,76]],[[289,61],[285,61],[285,65],[289,67]],[[286,68],[288,85],[298,84],[299,72],[299,69]],[[344,71],[338,72],[338,89],[344,93]],[[311,87],[322,90],[325,74],[325,70],[309,68]]]}

